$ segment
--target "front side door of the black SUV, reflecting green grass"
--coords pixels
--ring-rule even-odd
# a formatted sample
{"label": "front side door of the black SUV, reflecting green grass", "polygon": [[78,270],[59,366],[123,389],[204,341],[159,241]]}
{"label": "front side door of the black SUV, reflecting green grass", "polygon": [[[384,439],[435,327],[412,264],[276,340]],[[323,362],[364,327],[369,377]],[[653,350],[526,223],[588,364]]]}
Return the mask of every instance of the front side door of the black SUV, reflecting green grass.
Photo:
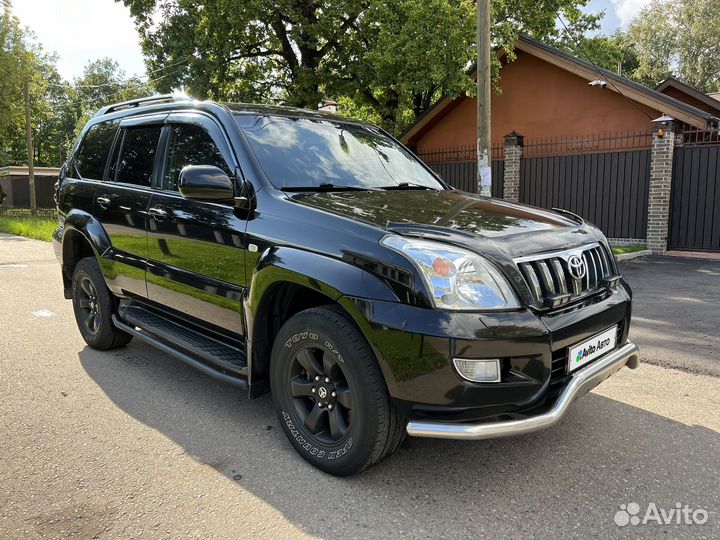
{"label": "front side door of the black SUV, reflecting green grass", "polygon": [[178,191],[188,165],[214,165],[234,178],[235,156],[208,116],[175,113],[165,129],[164,166],[148,209],[148,296],[178,315],[244,335],[246,219],[232,204],[185,199]]}

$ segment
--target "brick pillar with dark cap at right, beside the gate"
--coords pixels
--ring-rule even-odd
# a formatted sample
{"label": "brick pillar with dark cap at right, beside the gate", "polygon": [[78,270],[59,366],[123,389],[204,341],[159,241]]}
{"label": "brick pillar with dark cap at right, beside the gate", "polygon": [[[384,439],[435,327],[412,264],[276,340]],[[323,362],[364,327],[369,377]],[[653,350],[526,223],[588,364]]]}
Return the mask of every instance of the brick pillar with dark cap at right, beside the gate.
{"label": "brick pillar with dark cap at right, beside the gate", "polygon": [[647,247],[656,255],[667,251],[672,189],[672,159],[675,147],[675,119],[661,116],[653,120],[648,194]]}

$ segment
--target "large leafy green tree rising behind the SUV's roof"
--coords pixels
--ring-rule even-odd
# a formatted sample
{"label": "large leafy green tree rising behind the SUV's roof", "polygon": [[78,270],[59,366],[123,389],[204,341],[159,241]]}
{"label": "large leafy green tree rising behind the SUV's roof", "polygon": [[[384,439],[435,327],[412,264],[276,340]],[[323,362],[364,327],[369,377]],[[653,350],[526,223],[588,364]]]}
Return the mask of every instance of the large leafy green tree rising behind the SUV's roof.
{"label": "large leafy green tree rising behind the SUV's roof", "polygon": [[[398,132],[440,95],[473,88],[472,0],[116,1],[161,91],[310,108],[335,97]],[[493,41],[512,57],[518,32],[559,38],[558,13],[583,32],[597,24],[586,3],[494,0]]]}

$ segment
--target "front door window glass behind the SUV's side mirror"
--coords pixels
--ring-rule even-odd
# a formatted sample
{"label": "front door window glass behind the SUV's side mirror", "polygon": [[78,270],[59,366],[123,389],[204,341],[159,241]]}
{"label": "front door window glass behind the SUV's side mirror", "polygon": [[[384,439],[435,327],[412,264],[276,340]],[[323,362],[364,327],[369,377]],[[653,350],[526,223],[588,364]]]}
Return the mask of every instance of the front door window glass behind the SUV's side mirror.
{"label": "front door window glass behind the SUV's side mirror", "polygon": [[210,134],[200,126],[178,124],[170,134],[163,189],[177,191],[180,171],[187,165],[215,165],[230,176],[230,168]]}

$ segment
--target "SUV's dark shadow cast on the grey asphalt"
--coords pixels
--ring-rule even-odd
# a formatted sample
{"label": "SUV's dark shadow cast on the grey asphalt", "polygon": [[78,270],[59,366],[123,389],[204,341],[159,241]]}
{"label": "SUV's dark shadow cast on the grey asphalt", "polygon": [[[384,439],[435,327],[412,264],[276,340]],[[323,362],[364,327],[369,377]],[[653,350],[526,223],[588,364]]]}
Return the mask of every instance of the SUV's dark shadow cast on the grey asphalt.
{"label": "SUV's dark shadow cast on the grey asphalt", "polygon": [[[137,341],[110,352],[85,348],[79,357],[125,413],[308,534],[626,537],[613,516],[633,501],[705,507],[717,527],[718,433],[599,395],[578,400],[560,425],[528,436],[407,439],[384,462],[343,479],[296,455],[269,396],[250,401],[244,391]],[[670,532],[688,538],[696,531],[711,532]],[[662,532],[651,525],[633,536]]]}

